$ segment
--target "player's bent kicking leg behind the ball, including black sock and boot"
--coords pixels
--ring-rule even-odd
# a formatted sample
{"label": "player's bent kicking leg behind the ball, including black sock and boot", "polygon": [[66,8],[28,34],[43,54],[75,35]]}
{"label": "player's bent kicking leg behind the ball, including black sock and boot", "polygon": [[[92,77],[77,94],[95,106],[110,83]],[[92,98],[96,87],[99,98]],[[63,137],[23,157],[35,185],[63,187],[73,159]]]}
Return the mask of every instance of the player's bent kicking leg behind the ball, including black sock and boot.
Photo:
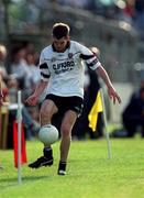
{"label": "player's bent kicking leg behind the ball, including black sock and boot", "polygon": [[[41,119],[41,125],[46,125],[51,123],[52,117],[54,113],[57,112],[57,107],[55,103],[46,99],[41,108],[40,112],[40,119]],[[35,162],[29,164],[29,167],[31,168],[40,168],[41,166],[51,166],[53,165],[53,150],[51,145],[44,145],[43,150],[43,156],[38,157]]]}

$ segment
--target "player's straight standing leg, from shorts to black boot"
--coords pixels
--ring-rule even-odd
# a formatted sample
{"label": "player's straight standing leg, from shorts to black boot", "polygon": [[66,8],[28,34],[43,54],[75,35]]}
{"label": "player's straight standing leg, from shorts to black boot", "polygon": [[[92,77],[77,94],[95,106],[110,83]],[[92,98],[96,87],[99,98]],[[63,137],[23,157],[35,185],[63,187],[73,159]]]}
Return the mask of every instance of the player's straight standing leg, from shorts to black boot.
{"label": "player's straight standing leg, from shorts to black boot", "polygon": [[71,129],[76,122],[77,113],[73,110],[68,110],[62,122],[60,133],[60,161],[58,166],[58,175],[66,175],[66,163],[71,141]]}

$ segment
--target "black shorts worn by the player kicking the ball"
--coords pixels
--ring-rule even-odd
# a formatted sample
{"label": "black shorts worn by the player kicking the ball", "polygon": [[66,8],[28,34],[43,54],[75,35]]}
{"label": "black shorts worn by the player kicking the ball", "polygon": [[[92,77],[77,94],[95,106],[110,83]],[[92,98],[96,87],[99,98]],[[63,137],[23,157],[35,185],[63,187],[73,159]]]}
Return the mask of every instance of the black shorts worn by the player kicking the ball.
{"label": "black shorts worn by the player kicking the ball", "polygon": [[68,110],[73,110],[78,113],[78,116],[82,112],[84,100],[80,97],[60,97],[55,95],[47,95],[46,99],[51,99],[56,105],[58,112],[65,113]]}

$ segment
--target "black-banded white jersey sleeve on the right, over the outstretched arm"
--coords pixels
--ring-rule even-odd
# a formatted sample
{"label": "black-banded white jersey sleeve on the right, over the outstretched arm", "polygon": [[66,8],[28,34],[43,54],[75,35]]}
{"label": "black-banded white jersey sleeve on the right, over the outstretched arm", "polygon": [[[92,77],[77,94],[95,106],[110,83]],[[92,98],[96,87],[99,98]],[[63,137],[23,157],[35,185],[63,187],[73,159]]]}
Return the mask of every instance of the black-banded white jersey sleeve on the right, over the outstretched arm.
{"label": "black-banded white jersey sleeve on the right, over the outstretched arm", "polygon": [[86,46],[78,44],[80,50],[80,58],[84,59],[87,66],[95,70],[97,67],[101,66],[101,63],[97,58],[97,56]]}

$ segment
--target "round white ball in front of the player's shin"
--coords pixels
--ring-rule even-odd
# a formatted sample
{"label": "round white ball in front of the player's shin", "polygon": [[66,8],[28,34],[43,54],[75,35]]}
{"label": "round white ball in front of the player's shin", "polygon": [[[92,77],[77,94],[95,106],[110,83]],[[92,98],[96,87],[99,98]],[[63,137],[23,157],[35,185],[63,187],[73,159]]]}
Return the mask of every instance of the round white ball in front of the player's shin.
{"label": "round white ball in front of the player's shin", "polygon": [[52,124],[44,125],[40,129],[38,139],[44,145],[54,144],[58,140],[58,130]]}

